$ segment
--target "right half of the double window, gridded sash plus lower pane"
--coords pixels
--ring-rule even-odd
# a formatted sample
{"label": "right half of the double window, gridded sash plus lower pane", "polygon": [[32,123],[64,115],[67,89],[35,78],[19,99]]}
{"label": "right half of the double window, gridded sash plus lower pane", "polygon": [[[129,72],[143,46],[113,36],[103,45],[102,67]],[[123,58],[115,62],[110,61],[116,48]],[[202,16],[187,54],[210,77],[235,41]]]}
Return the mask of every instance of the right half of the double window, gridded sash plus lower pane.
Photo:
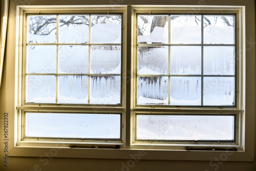
{"label": "right half of the double window, gridded sash plus lower pane", "polygon": [[135,106],[195,113],[136,112],[134,140],[236,142],[238,113],[197,110],[237,105],[236,15],[137,13],[136,19]]}

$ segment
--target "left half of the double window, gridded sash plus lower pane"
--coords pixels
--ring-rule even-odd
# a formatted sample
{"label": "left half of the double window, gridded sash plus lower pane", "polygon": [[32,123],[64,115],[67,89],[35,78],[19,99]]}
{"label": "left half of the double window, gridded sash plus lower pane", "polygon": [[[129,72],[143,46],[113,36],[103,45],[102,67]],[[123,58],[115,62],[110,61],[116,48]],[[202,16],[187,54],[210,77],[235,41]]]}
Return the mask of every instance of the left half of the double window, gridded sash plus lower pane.
{"label": "left half of the double window, gridded sash plus lower pane", "polygon": [[28,12],[24,24],[23,140],[122,142],[123,14]]}

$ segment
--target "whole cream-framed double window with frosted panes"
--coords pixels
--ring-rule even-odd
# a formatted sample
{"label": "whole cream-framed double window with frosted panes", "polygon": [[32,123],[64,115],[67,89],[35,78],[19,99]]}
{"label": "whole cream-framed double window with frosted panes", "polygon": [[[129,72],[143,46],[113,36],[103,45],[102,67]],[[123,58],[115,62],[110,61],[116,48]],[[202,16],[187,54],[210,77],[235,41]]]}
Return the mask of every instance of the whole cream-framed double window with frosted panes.
{"label": "whole cream-framed double window with frosted panes", "polygon": [[20,9],[17,146],[243,151],[243,7]]}

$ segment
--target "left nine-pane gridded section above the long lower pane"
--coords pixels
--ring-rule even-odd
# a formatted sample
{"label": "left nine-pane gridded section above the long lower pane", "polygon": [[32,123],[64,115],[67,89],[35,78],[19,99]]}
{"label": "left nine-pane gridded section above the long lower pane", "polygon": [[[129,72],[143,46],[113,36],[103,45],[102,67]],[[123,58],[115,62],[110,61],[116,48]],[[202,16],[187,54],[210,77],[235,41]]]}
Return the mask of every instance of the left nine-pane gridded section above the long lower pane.
{"label": "left nine-pane gridded section above the long lower pane", "polygon": [[28,15],[26,103],[121,104],[122,15]]}

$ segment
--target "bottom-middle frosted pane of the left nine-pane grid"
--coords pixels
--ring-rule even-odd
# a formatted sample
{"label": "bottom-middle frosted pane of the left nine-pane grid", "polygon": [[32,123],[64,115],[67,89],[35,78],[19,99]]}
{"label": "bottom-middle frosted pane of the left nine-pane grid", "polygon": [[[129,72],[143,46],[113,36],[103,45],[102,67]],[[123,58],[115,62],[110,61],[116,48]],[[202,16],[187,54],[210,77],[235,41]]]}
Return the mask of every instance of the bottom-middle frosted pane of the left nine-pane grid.
{"label": "bottom-middle frosted pane of the left nine-pane grid", "polygon": [[58,103],[88,103],[88,76],[59,76]]}

